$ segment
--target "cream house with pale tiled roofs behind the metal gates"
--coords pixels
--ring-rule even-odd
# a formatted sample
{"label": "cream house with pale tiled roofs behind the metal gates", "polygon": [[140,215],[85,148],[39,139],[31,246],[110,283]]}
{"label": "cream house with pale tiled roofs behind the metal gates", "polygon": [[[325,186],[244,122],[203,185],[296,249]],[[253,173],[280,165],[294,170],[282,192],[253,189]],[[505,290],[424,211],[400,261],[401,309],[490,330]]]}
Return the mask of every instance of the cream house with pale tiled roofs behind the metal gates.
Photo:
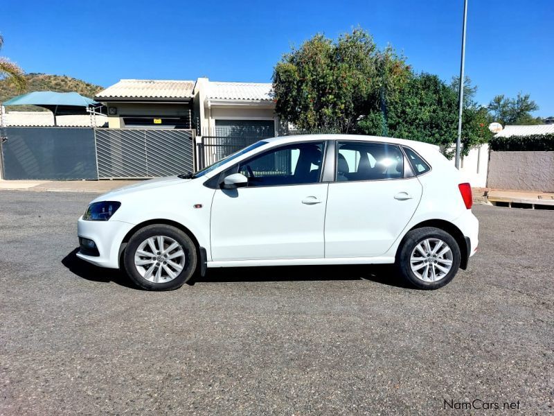
{"label": "cream house with pale tiled roofs behind the metal gates", "polygon": [[273,137],[271,83],[125,79],[94,97],[107,105],[109,128],[195,128],[198,135]]}

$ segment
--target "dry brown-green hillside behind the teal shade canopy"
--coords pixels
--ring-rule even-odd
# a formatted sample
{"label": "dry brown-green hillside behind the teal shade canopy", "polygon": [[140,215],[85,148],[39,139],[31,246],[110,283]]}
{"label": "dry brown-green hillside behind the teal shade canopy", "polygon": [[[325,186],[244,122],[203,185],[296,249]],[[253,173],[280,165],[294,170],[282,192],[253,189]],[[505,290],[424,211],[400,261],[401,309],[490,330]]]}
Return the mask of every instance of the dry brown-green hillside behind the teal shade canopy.
{"label": "dry brown-green hillside behind the teal shade canopy", "polygon": [[[12,97],[25,94],[32,91],[55,91],[55,92],[78,92],[82,96],[93,98],[94,94],[102,91],[100,85],[85,83],[83,80],[71,78],[65,75],[46,75],[45,73],[28,73],[27,89],[24,92],[17,92],[7,80],[0,80],[0,103],[9,100]],[[41,107],[34,105],[17,105],[9,107],[13,111],[41,111]],[[44,110],[46,111],[46,110]]]}

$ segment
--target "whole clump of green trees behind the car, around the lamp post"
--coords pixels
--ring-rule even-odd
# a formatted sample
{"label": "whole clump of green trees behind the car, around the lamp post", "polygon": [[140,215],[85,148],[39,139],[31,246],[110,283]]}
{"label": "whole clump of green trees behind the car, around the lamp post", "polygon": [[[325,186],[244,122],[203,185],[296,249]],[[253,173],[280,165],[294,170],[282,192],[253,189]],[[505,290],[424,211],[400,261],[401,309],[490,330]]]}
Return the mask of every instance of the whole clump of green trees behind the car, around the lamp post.
{"label": "whole clump of green trees behind the car, around the lamp post", "polygon": [[[276,111],[303,130],[393,136],[443,146],[447,155],[458,129],[458,84],[414,74],[391,46],[379,50],[361,29],[336,42],[315,35],[283,55],[273,74]],[[465,78],[462,141],[488,140],[488,112],[474,101]]]}

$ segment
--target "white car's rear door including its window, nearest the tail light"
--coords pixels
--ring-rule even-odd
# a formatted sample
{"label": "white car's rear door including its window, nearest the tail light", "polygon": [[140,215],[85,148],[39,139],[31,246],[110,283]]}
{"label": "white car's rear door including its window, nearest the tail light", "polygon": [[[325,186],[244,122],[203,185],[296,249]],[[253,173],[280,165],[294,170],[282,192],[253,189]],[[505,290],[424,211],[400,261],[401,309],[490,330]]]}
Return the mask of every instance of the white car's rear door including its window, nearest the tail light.
{"label": "white car's rear door including its window, nearest the tail light", "polygon": [[393,144],[337,141],[325,214],[325,257],[376,257],[393,245],[422,195]]}

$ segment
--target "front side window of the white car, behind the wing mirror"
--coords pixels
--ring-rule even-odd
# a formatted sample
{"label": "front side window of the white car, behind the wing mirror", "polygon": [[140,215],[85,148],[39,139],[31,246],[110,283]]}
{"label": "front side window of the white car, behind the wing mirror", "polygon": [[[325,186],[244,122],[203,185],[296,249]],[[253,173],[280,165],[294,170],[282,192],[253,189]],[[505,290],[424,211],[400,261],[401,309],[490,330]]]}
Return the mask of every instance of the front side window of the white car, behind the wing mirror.
{"label": "front side window of the white car, behind the wing mirror", "polygon": [[241,162],[238,173],[249,187],[312,184],[319,182],[322,160],[323,141],[289,144]]}

